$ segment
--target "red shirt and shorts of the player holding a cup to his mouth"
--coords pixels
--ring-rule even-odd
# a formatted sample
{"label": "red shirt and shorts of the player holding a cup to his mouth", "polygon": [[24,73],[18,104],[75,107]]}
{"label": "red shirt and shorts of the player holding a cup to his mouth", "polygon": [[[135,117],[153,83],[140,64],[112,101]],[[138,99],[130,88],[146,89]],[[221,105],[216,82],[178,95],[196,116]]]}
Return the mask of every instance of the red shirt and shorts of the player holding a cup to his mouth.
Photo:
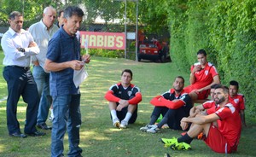
{"label": "red shirt and shorts of the player holding a cup to his mouth", "polygon": [[[194,68],[194,65],[191,66],[190,71],[192,72]],[[202,68],[199,72],[195,72],[195,83],[185,87],[184,90],[191,92],[192,90],[199,90],[203,87],[206,87],[207,85],[212,84],[213,77],[216,75],[218,75],[216,67],[214,67],[212,63],[207,62],[206,67]],[[209,93],[210,90],[203,90],[197,94],[197,99],[207,99]]]}

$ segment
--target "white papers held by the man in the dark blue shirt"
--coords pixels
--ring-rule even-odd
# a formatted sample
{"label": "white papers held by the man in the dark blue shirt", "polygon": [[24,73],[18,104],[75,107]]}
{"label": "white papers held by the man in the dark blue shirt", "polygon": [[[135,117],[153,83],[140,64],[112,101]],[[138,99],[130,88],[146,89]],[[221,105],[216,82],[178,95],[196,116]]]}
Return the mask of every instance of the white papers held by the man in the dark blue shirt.
{"label": "white papers held by the man in the dark blue shirt", "polygon": [[[85,66],[84,66],[85,67]],[[73,83],[75,84],[76,88],[79,87],[82,82],[88,77],[88,73],[85,71],[84,67],[80,70],[73,71]]]}

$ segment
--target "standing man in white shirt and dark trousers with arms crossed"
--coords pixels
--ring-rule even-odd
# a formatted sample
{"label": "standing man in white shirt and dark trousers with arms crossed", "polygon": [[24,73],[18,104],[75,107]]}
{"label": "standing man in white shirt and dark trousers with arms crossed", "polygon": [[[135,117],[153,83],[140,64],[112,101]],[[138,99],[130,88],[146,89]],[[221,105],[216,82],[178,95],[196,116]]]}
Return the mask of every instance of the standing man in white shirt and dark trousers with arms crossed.
{"label": "standing man in white shirt and dark trousers with arms crossed", "polygon": [[[13,11],[9,15],[9,30],[3,34],[1,46],[3,48],[3,78],[8,86],[6,105],[7,126],[9,136],[25,138],[44,136],[44,132],[37,131],[37,115],[39,96],[37,84],[30,71],[31,56],[39,53],[38,45],[34,42],[30,32],[22,29],[23,15]],[[20,131],[17,119],[17,103],[20,96],[27,103],[26,123],[24,132]]]}

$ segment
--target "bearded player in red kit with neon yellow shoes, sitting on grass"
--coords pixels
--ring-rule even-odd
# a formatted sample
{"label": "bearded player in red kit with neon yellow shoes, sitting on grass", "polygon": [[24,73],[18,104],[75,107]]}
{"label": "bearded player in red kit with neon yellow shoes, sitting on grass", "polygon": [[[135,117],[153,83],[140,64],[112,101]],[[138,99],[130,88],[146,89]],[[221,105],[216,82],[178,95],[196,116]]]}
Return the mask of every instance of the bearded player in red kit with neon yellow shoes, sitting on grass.
{"label": "bearded player in red kit with neon yellow shoes, sitting on grass", "polygon": [[214,90],[214,102],[216,108],[207,110],[207,115],[199,115],[194,118],[183,118],[181,126],[185,130],[189,123],[192,125],[187,134],[172,139],[161,138],[166,146],[176,149],[191,148],[190,142],[201,131],[204,132],[204,142],[214,152],[230,154],[235,152],[241,136],[241,118],[236,108],[229,102],[229,89],[219,84]]}

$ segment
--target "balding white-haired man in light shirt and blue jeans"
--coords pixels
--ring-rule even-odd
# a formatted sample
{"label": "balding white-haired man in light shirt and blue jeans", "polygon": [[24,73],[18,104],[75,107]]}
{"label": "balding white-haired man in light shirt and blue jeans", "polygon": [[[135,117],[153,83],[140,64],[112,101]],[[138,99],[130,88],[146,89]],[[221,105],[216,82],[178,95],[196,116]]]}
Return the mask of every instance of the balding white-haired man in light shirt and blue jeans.
{"label": "balding white-haired man in light shirt and blue jeans", "polygon": [[41,100],[38,108],[38,128],[49,130],[51,127],[46,125],[49,113],[49,107],[52,98],[49,96],[49,73],[44,70],[44,61],[48,49],[48,43],[53,34],[58,31],[58,26],[54,25],[56,11],[49,6],[44,9],[43,19],[29,27],[28,31],[32,33],[32,37],[38,44],[40,53],[32,57],[33,76],[38,85],[38,93]]}

